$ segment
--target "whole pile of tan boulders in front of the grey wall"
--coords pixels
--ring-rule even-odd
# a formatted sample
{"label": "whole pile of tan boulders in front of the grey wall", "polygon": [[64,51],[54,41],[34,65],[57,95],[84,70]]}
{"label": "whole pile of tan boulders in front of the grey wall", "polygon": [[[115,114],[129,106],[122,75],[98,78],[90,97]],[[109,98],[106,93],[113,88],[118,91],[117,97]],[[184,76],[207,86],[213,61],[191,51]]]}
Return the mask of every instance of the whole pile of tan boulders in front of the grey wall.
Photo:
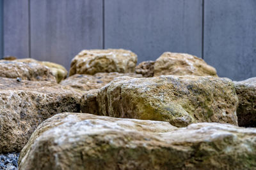
{"label": "whole pile of tan boulders in front of the grey wall", "polygon": [[[204,60],[83,50],[65,68],[0,61],[0,169],[253,169],[256,81]],[[239,127],[240,126],[240,127]],[[3,159],[2,159],[3,157]]]}

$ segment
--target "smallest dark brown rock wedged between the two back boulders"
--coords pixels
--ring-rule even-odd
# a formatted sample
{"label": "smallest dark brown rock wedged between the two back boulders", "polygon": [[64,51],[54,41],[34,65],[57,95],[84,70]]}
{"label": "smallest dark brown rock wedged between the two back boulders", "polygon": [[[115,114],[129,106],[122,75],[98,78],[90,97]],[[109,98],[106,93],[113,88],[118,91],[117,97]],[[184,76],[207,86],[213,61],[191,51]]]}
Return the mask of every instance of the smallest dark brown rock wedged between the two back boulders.
{"label": "smallest dark brown rock wedged between the two back boulders", "polygon": [[135,67],[135,73],[142,74],[144,77],[154,76],[154,64],[152,60],[143,61]]}

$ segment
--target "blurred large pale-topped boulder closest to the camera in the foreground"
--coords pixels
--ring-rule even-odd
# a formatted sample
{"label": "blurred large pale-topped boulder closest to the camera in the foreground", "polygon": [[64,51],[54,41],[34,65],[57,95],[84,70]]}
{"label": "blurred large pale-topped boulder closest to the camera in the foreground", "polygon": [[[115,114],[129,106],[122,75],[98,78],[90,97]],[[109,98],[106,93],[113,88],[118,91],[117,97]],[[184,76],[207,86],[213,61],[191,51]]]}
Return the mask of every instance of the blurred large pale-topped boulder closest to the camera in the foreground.
{"label": "blurred large pale-topped boulder closest to the camera in the foreground", "polygon": [[256,129],[200,123],[54,115],[38,126],[19,169],[253,169]]}

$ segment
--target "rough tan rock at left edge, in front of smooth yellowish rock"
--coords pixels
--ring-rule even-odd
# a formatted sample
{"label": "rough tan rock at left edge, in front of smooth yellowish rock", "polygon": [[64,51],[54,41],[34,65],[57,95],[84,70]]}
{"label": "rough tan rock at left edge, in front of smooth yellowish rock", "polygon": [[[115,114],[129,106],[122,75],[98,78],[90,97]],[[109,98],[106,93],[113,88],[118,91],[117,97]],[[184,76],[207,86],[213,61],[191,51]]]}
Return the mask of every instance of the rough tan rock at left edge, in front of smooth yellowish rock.
{"label": "rough tan rock at left edge, in front of smooth yellowish rock", "polygon": [[37,63],[1,60],[0,76],[21,78],[21,80],[56,82],[56,78],[52,75],[51,70]]}

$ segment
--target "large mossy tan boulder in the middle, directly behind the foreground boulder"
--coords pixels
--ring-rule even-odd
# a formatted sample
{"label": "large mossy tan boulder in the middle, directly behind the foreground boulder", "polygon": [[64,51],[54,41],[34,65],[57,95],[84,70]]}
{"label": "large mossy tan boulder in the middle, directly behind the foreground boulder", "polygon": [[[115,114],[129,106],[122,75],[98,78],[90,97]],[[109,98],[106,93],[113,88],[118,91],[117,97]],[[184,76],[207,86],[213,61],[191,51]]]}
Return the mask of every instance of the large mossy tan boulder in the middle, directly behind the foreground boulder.
{"label": "large mossy tan boulder in the middle, directly behind the foreground boulder", "polygon": [[[82,99],[81,108],[86,113],[109,117],[160,120],[177,127],[196,122],[237,125],[238,99],[234,83],[228,78],[123,76],[102,87],[96,102],[90,103],[87,96]],[[86,106],[93,106],[93,110]]]}

